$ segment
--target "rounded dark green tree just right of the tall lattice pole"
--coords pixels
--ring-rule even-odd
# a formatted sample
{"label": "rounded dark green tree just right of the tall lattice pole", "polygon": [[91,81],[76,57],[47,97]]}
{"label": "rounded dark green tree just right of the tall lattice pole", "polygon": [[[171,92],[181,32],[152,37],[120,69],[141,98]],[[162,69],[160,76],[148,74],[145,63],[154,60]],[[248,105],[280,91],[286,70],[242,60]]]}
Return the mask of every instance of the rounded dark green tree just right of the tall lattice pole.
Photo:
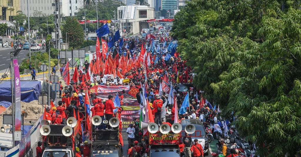
{"label": "rounded dark green tree just right of the tall lattice pole", "polygon": [[[69,47],[73,49],[80,48],[84,42],[84,31],[74,17],[68,17],[66,24],[62,29],[63,40],[69,43]],[[67,34],[67,39],[65,34]]]}

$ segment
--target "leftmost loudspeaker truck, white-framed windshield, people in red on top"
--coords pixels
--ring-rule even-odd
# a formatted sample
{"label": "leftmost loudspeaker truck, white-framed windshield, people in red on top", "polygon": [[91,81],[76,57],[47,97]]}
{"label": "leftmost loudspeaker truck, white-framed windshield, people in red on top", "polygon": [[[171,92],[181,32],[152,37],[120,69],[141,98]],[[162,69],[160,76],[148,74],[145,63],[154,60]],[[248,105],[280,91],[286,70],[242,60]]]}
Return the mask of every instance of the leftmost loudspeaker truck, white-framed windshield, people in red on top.
{"label": "leftmost loudspeaker truck, white-framed windshield, people in red on top", "polygon": [[47,120],[41,121],[40,133],[43,140],[42,157],[75,157],[76,143],[80,136],[78,121],[74,117],[67,119],[67,125],[49,124]]}

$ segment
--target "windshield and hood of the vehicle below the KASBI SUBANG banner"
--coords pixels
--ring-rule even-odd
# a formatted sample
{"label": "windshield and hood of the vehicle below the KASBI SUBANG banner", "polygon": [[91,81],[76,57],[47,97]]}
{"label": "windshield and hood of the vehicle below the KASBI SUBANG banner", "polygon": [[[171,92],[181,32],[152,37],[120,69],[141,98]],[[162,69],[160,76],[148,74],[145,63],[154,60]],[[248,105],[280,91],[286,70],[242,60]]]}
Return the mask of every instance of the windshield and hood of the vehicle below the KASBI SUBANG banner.
{"label": "windshield and hood of the vehicle below the KASBI SUBANG banner", "polygon": [[178,145],[153,145],[149,157],[180,157]]}

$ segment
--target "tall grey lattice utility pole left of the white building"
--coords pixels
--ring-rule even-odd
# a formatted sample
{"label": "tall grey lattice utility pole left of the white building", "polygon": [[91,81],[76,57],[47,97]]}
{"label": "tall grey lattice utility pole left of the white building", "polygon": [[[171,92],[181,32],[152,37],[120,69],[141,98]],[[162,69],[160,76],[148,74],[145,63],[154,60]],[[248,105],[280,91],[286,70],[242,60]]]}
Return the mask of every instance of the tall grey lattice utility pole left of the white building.
{"label": "tall grey lattice utility pole left of the white building", "polygon": [[55,25],[55,48],[57,48],[60,51],[60,0],[54,0],[54,25]]}

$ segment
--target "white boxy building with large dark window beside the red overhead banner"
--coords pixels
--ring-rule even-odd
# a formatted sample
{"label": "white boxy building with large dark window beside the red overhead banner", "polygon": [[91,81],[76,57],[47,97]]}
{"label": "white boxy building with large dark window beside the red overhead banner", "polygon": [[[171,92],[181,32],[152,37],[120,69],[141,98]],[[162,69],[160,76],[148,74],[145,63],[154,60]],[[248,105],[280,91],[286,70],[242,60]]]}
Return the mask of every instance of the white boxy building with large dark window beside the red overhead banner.
{"label": "white boxy building with large dark window beside the red overhead banner", "polygon": [[149,28],[147,20],[154,19],[155,10],[145,5],[126,5],[117,8],[121,33],[138,34],[142,28]]}

